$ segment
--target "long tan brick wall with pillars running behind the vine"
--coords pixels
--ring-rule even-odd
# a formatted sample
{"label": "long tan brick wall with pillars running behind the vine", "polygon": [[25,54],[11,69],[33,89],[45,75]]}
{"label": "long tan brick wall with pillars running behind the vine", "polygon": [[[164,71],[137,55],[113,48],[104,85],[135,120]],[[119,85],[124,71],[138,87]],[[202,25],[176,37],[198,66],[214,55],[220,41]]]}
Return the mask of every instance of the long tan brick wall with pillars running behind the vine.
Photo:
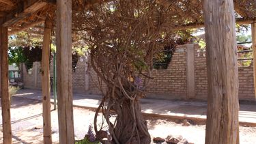
{"label": "long tan brick wall with pillars running behind the vine", "polygon": [[[195,99],[207,99],[207,70],[205,52],[199,51],[198,44],[194,45],[195,55]],[[153,70],[154,79],[150,82],[146,89],[147,97],[162,99],[186,99],[188,98],[188,82],[187,82],[187,57],[186,45],[178,46],[174,53],[167,70]],[[87,71],[87,59],[83,57],[83,61],[78,61],[76,72],[73,72],[73,89],[74,92],[101,94],[98,89],[98,76],[92,68]],[[51,76],[53,76],[53,62],[51,61]],[[41,89],[40,62],[35,70],[35,63],[32,74],[27,74],[24,68],[25,87]],[[35,71],[38,76],[35,83]],[[106,85],[103,85],[103,91]],[[36,84],[36,85],[35,85]],[[239,98],[240,100],[255,100],[253,88],[253,65],[249,67],[239,68]]]}

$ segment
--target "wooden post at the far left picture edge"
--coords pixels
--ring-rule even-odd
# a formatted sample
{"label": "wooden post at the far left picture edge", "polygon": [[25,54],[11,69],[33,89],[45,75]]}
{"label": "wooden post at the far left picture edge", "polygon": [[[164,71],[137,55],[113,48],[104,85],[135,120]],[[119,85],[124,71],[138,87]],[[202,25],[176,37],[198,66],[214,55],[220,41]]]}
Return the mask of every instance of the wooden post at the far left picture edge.
{"label": "wooden post at the far left picture edge", "polygon": [[8,78],[8,27],[0,27],[0,61],[1,61],[1,102],[3,119],[3,144],[12,144],[12,127],[10,113],[9,78]]}

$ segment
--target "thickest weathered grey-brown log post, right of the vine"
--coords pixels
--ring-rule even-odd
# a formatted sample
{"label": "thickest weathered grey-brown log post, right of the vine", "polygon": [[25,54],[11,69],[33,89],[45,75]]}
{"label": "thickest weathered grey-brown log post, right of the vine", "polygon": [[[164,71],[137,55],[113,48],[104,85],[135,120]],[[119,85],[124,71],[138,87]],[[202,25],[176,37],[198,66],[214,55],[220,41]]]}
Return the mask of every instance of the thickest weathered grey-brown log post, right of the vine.
{"label": "thickest weathered grey-brown log post, right of the vine", "polygon": [[238,61],[233,0],[204,0],[208,112],[205,143],[238,144]]}

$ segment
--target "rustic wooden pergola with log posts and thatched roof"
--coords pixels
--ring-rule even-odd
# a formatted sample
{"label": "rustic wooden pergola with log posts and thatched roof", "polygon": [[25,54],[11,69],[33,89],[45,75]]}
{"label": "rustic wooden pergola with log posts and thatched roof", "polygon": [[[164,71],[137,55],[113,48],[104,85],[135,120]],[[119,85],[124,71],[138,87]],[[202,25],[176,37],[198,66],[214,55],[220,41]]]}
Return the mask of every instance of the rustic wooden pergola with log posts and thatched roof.
{"label": "rustic wooden pergola with log posts and thatched roof", "polygon": [[[178,0],[176,0],[177,2]],[[190,23],[178,23],[173,30],[205,27],[208,68],[208,117],[205,143],[239,143],[238,64],[235,24],[251,24],[253,54],[256,56],[256,2],[244,0],[187,0],[186,11],[172,0],[156,0],[173,5],[177,17]],[[100,0],[0,0],[0,72],[3,117],[3,143],[12,143],[10,97],[8,93],[8,35],[44,23],[42,48],[42,101],[44,143],[51,141],[51,103],[49,55],[51,30],[56,25],[57,100],[59,143],[74,143],[72,109],[72,10],[86,10]],[[180,0],[182,3],[182,1]],[[197,10],[194,10],[196,9]],[[238,14],[235,18],[235,12]],[[56,11],[56,16],[53,14]],[[197,12],[198,11],[198,12]],[[55,18],[54,18],[55,17]],[[198,18],[204,17],[204,20]],[[55,21],[56,20],[56,21]],[[236,21],[235,21],[236,20]],[[42,29],[39,27],[38,29]],[[253,60],[256,68],[256,59]],[[256,83],[256,70],[254,70]],[[256,85],[255,85],[256,90]]]}

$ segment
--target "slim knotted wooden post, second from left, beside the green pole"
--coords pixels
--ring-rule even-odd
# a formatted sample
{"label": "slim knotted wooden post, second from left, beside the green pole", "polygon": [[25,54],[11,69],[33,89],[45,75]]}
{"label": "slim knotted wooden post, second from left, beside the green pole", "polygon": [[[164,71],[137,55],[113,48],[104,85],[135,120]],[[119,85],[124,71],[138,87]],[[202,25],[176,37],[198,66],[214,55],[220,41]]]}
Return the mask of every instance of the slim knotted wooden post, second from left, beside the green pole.
{"label": "slim knotted wooden post, second from left, beside the green pole", "polygon": [[51,86],[50,86],[50,44],[52,22],[46,18],[42,47],[42,105],[44,122],[44,143],[52,143],[51,138]]}

